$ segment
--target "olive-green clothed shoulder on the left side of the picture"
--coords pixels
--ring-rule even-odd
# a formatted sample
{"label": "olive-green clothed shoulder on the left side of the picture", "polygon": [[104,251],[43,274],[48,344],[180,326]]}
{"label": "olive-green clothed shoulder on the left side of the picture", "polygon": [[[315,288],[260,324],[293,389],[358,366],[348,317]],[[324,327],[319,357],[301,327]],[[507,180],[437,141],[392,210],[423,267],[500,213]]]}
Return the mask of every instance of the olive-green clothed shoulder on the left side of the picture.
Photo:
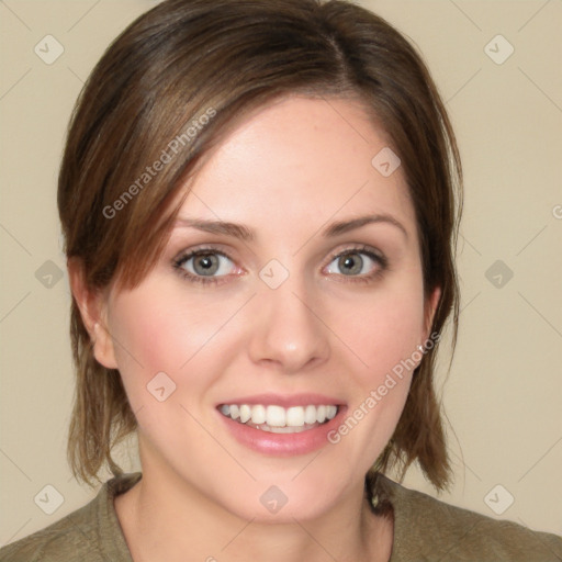
{"label": "olive-green clothed shoulder on the left side of the picture", "polygon": [[128,562],[113,497],[139,477],[140,473],[124,474],[105,482],[80,509],[1,548],[0,562]]}

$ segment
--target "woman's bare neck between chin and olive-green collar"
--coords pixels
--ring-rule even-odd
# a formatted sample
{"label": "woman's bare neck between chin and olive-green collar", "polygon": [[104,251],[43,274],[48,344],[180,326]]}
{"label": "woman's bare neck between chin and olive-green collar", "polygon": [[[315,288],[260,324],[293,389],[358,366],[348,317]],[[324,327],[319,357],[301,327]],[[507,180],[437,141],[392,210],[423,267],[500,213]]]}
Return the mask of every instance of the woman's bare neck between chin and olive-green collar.
{"label": "woman's bare neck between chin and olive-green collar", "polygon": [[392,521],[372,513],[362,486],[314,519],[271,524],[241,518],[178,475],[143,467],[115,510],[134,562],[387,561],[393,540]]}

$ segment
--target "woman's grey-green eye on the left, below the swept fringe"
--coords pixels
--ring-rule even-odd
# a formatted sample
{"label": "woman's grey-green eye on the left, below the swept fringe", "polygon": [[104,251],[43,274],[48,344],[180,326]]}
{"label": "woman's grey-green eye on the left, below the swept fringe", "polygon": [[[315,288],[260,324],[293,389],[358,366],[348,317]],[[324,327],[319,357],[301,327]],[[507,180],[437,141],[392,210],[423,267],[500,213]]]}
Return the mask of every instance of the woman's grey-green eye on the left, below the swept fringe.
{"label": "woman's grey-green eye on the left, below the swept fringe", "polygon": [[[231,263],[231,265],[229,265]],[[173,260],[180,276],[198,283],[218,283],[236,268],[232,259],[214,248],[199,248]]]}

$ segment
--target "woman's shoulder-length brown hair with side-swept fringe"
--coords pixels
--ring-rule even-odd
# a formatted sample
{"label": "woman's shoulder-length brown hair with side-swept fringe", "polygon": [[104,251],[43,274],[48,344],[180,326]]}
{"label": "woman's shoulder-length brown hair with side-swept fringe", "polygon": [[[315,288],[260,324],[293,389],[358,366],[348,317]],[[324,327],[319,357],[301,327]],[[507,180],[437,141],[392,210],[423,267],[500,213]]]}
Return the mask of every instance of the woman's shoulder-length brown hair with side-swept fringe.
{"label": "woman's shoulder-length brown hair with side-swept fringe", "polygon": [[[70,122],[58,184],[67,258],[79,259],[92,291],[113,280],[138,284],[168,240],[186,178],[228,127],[290,94],[359,99],[382,124],[415,209],[426,297],[441,288],[431,331],[440,334],[453,312],[453,350],[456,207],[457,221],[462,211],[454,135],[412,45],[346,1],[168,0],[134,21],[91,72]],[[149,173],[158,160],[158,173]],[[90,483],[104,462],[121,473],[112,448],[136,420],[119,371],[94,359],[75,299],[70,335],[77,387],[68,457],[75,476]],[[372,470],[397,463],[403,476],[417,460],[443,488],[450,465],[432,383],[437,348],[416,369]]]}

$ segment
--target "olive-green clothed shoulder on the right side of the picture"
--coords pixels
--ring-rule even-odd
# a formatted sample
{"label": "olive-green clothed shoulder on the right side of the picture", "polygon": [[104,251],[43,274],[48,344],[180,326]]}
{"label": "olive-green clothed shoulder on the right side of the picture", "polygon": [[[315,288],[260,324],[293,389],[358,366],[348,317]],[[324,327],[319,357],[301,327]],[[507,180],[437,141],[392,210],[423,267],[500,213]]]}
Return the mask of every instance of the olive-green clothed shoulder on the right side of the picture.
{"label": "olive-green clothed shoulder on the right side of the picture", "polygon": [[386,476],[379,475],[376,486],[394,510],[391,562],[562,560],[562,537],[557,535],[447,504]]}

